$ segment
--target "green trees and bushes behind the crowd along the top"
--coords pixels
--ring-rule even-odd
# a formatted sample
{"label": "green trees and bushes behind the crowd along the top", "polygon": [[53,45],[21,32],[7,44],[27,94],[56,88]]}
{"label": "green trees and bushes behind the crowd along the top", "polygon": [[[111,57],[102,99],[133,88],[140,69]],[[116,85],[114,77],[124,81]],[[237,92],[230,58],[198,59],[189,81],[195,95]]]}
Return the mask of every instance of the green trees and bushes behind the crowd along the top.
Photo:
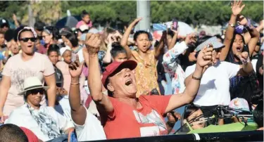
{"label": "green trees and bushes behind the crowd along the top", "polygon": [[[80,15],[83,10],[87,10],[91,13],[95,25],[113,27],[127,25],[137,17],[137,1],[59,1],[59,3],[42,1],[37,6],[35,4],[32,6],[34,15],[37,19],[48,19],[54,23],[58,16],[64,17],[67,10],[73,15]],[[246,6],[242,14],[256,22],[263,19],[263,1],[243,3]],[[18,18],[26,19],[27,4],[29,1],[0,1],[0,17],[11,19],[12,13],[16,13]],[[151,22],[167,22],[177,18],[194,26],[222,25],[228,22],[230,15],[230,1],[151,1]]]}

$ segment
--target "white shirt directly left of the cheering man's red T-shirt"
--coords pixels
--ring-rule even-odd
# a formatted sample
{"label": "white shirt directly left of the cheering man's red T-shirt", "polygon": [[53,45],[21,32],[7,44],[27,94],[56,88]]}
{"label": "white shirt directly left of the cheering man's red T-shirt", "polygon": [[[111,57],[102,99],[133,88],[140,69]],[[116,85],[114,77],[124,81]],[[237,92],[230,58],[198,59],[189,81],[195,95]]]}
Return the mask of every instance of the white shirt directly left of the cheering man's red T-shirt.
{"label": "white shirt directly left of the cheering man's red T-shirt", "polygon": [[106,139],[106,134],[103,131],[101,122],[92,115],[91,112],[86,111],[87,116],[83,125],[75,125],[75,131],[78,141],[96,141]]}

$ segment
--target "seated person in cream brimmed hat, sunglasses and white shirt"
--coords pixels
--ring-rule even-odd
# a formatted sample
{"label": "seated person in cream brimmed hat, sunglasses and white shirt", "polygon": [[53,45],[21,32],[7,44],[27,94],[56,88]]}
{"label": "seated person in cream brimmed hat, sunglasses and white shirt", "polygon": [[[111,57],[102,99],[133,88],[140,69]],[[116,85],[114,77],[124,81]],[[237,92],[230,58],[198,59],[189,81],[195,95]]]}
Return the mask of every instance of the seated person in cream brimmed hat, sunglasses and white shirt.
{"label": "seated person in cream brimmed hat, sunglasses and white shirt", "polygon": [[24,89],[18,94],[24,97],[25,104],[13,110],[5,123],[30,129],[42,141],[67,139],[73,123],[54,108],[40,104],[47,89],[49,86],[43,86],[37,77],[25,79]]}

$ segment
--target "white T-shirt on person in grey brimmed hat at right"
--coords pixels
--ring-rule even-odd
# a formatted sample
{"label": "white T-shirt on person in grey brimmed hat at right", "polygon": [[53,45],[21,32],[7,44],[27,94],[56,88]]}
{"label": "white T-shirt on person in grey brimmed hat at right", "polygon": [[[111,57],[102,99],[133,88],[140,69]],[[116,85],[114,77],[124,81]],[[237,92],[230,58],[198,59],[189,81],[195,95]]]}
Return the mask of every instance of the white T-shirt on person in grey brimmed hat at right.
{"label": "white T-shirt on person in grey brimmed hat at right", "polygon": [[[187,77],[194,72],[195,67],[196,64],[187,67],[185,71]],[[239,69],[239,65],[225,61],[208,67],[201,78],[194,104],[200,106],[229,105],[230,78],[236,76]]]}

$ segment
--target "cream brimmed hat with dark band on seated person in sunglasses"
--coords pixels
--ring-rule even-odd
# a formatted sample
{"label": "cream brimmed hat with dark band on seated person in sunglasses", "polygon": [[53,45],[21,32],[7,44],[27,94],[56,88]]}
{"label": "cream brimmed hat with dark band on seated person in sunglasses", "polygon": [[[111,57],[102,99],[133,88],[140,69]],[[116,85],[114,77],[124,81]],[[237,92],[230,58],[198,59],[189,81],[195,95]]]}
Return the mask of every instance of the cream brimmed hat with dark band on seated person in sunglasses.
{"label": "cream brimmed hat with dark band on seated person in sunglasses", "polygon": [[45,90],[49,89],[49,86],[44,86],[37,77],[28,77],[27,79],[25,79],[23,85],[24,85],[23,91],[18,93],[18,95],[23,95],[25,94],[26,91],[33,89],[45,89]]}

